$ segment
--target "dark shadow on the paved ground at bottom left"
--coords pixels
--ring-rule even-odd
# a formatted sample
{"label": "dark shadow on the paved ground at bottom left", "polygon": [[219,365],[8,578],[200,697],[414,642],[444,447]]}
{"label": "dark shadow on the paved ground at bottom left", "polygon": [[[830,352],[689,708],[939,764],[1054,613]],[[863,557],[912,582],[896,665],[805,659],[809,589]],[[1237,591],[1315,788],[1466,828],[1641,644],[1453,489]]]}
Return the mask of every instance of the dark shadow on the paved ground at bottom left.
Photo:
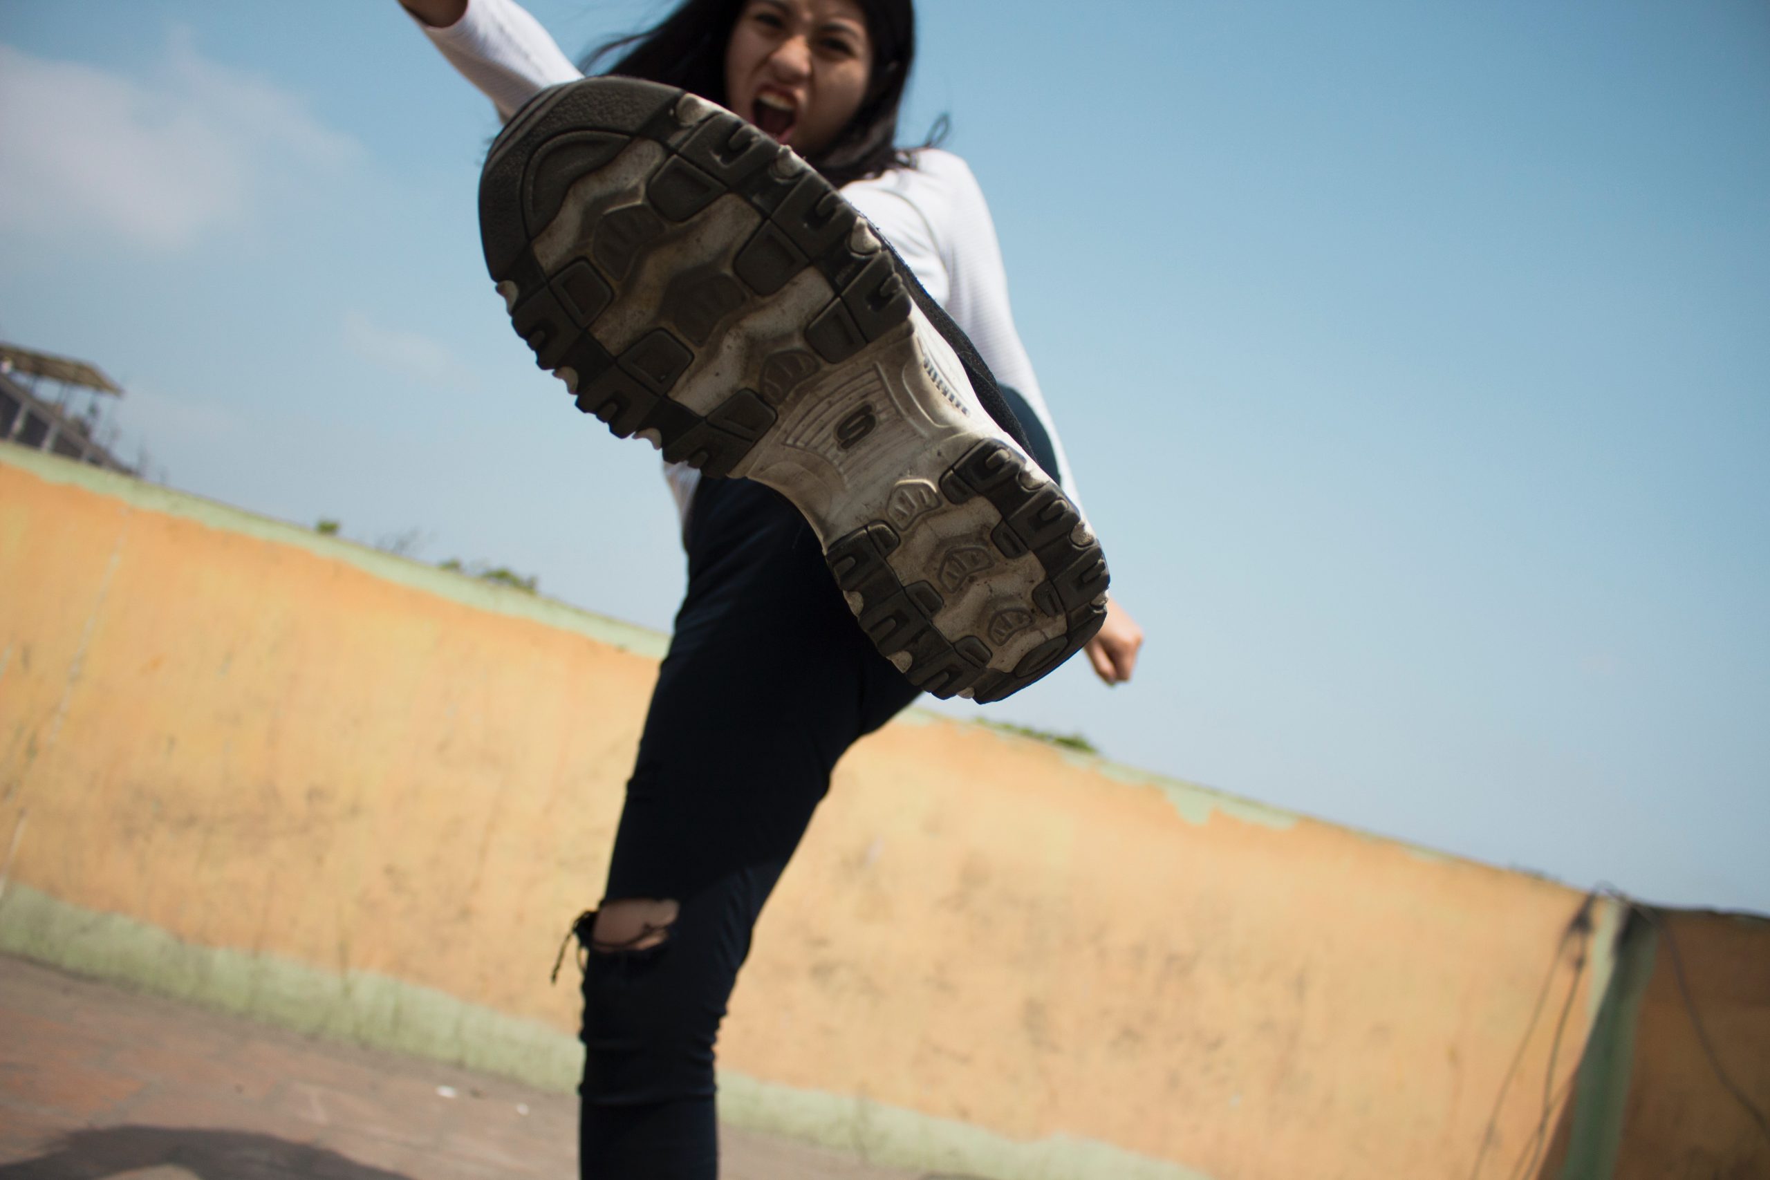
{"label": "dark shadow on the paved ground at bottom left", "polygon": [[0,1180],[103,1180],[168,1166],[202,1180],[409,1180],[306,1143],[184,1127],[73,1130],[37,1159],[0,1164]]}

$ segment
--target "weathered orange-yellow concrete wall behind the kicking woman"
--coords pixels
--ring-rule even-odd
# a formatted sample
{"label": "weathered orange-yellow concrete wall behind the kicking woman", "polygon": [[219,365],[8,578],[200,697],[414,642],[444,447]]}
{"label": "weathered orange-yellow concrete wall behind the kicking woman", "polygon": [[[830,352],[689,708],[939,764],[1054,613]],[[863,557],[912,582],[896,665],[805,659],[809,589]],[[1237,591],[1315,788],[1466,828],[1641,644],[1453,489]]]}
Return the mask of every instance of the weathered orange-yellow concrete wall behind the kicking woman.
{"label": "weathered orange-yellow concrete wall behind the kicking woman", "polygon": [[[646,640],[0,451],[5,876],[573,1031],[547,968],[598,895]],[[1147,1175],[1501,1176],[1604,984],[1579,906],[910,715],[837,771],[722,1065]],[[1579,998],[1552,1067],[1543,994]]]}

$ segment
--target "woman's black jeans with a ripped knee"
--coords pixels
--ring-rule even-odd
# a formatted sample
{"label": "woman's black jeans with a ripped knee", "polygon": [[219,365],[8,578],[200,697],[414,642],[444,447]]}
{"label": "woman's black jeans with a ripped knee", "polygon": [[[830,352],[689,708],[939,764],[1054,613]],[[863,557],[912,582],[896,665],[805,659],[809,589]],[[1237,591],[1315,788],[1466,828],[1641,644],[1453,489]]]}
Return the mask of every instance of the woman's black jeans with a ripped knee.
{"label": "woman's black jeans with a ripped knee", "polygon": [[[1020,396],[1034,458],[1050,439]],[[835,761],[917,690],[855,624],[781,495],[699,485],[689,593],[658,669],[605,900],[674,899],[657,946],[584,954],[584,1180],[715,1180],[713,1040],[750,931]],[[593,915],[577,927],[589,948]]]}

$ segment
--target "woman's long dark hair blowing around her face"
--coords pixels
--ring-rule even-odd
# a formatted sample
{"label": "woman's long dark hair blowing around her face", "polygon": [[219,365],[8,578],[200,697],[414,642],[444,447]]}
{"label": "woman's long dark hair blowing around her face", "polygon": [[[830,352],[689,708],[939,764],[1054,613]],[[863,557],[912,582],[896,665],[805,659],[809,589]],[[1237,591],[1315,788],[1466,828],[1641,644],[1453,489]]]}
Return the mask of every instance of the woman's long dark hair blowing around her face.
{"label": "woman's long dark hair blowing around her face", "polygon": [[[724,104],[726,44],[745,2],[683,0],[651,28],[593,50],[584,58],[582,69],[586,74],[605,73],[662,81]],[[897,104],[903,103],[903,87],[915,62],[915,9],[912,0],[858,0],[858,4],[867,14],[867,37],[873,41],[867,94],[835,140],[809,159],[830,184],[837,186],[910,163],[897,147]],[[614,57],[614,64],[602,67],[609,57]],[[922,147],[933,147],[943,126],[942,115],[936,134]]]}

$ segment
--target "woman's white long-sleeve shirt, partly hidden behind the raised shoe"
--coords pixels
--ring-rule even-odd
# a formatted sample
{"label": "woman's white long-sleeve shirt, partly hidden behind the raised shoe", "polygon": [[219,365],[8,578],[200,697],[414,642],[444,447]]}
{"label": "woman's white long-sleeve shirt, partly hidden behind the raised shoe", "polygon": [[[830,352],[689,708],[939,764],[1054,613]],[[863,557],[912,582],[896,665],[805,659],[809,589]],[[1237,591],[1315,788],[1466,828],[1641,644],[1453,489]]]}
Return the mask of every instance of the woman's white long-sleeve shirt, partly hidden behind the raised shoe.
{"label": "woman's white long-sleeve shirt, partly hidden behind the raised shoe", "polygon": [[[457,23],[432,28],[419,21],[419,27],[442,57],[492,99],[501,119],[510,119],[540,90],[584,76],[540,21],[513,0],[469,0]],[[1080,506],[1069,456],[1014,329],[1002,246],[977,177],[963,159],[940,149],[920,149],[912,163],[844,184],[843,196],[873,221],[935,303],[972,338],[997,380],[1027,400],[1057,451],[1051,474]],[[666,478],[687,515],[701,472],[666,464]]]}

